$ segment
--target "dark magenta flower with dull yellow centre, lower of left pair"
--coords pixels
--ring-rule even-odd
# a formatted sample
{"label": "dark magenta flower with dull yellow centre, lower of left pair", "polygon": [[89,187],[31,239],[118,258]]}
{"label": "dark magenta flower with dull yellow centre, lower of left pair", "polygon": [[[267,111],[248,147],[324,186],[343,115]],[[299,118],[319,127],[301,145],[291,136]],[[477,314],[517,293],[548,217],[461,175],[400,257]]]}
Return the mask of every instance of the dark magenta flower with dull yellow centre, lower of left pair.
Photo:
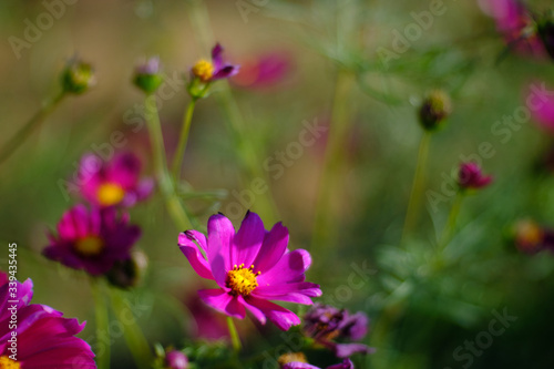
{"label": "dark magenta flower with dull yellow centre, lower of left pair", "polygon": [[98,276],[107,273],[115,262],[131,257],[131,248],[141,236],[129,216],[117,216],[115,208],[76,205],[65,212],[58,224],[58,236],[49,234],[45,257],[73,269]]}

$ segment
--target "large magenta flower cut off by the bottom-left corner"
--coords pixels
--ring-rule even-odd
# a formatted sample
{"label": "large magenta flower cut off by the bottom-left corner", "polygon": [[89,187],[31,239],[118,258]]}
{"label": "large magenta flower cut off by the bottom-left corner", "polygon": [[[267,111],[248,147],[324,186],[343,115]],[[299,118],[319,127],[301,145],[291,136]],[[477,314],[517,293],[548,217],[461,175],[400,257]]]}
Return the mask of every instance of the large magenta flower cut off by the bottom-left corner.
{"label": "large magenta flower cut off by the bottom-left corner", "polygon": [[[62,312],[51,307],[30,304],[32,287],[30,279],[0,287],[0,368],[96,368],[89,344],[75,337],[85,322],[80,325],[76,319],[63,318]],[[16,297],[10,288],[17,289]],[[18,317],[16,330],[9,328],[12,314]],[[16,350],[12,349],[13,332],[17,332]]]}

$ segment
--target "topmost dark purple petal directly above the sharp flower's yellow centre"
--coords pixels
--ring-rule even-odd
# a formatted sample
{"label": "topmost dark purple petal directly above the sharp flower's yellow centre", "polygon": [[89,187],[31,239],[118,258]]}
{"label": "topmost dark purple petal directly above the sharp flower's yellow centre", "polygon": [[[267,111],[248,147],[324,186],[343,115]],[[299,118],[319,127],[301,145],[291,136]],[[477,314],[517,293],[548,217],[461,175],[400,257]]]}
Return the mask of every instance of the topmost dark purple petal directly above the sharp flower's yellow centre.
{"label": "topmost dark purple petal directly above the sharp flower's yellow centre", "polygon": [[[233,239],[230,265],[244,264],[249,267],[260,250],[265,234],[266,229],[261,218],[256,213],[246,213],[243,224]],[[257,270],[259,269],[257,268]]]}

